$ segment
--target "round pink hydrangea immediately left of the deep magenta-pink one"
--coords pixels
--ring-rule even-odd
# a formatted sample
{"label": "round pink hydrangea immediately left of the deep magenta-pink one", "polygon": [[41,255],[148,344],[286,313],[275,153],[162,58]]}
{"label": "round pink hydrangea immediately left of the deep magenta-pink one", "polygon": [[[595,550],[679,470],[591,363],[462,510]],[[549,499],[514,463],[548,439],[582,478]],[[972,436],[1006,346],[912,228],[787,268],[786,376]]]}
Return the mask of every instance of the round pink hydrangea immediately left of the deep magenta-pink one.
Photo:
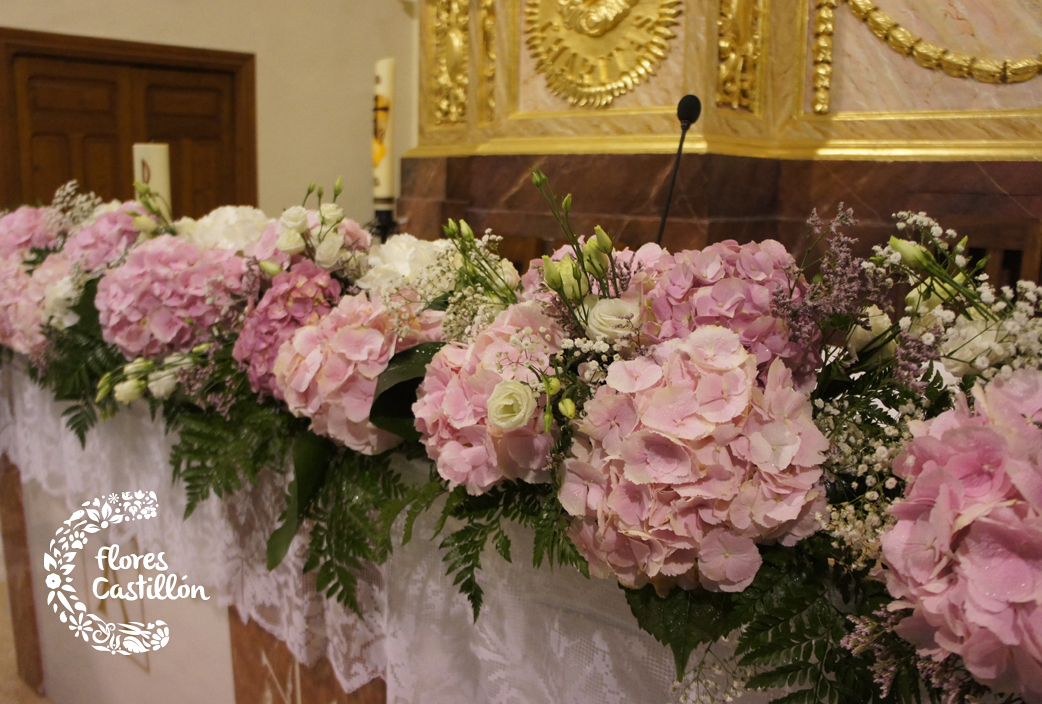
{"label": "round pink hydrangea immediately left of the deep magenta-pink one", "polygon": [[130,250],[98,284],[95,305],[105,342],[128,359],[188,352],[229,324],[247,286],[246,260],[202,251],[169,234]]}

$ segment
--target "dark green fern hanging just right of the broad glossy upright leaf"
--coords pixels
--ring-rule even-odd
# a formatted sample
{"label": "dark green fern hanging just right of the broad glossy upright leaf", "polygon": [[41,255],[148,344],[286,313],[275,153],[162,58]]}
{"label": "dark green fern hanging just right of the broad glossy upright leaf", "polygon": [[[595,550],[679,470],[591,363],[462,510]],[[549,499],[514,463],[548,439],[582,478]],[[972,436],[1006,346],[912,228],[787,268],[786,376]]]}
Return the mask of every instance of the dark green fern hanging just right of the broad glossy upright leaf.
{"label": "dark green fern hanging just right of the broad glossy upright leaf", "polygon": [[401,505],[408,492],[390,469],[390,453],[371,457],[343,451],[301,516],[315,522],[304,571],[318,570],[319,592],[359,617],[357,573],[365,562],[382,563],[391,554],[394,518],[381,508]]}

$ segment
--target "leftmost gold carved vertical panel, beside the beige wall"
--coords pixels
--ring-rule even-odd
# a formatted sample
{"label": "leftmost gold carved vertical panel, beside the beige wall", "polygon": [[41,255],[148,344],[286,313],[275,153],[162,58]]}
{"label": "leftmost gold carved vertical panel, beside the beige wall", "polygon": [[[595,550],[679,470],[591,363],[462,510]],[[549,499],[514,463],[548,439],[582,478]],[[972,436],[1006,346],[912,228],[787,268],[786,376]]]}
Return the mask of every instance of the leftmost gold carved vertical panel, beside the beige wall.
{"label": "leftmost gold carved vertical panel, beside the beige wall", "polygon": [[469,23],[468,0],[431,0],[429,80],[430,121],[435,125],[467,122]]}

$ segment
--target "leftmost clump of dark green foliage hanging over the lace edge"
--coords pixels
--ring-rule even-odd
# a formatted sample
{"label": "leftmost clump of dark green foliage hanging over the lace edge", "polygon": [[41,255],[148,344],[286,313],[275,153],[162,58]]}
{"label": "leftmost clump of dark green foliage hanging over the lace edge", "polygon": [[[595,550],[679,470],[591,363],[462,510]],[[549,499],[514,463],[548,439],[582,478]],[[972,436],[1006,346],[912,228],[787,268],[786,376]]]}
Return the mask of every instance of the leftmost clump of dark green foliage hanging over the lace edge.
{"label": "leftmost clump of dark green foliage hanging over the lace edge", "polygon": [[50,388],[57,401],[69,402],[61,414],[80,445],[86,442],[88,431],[97,425],[99,418],[116,412],[111,397],[96,403],[98,382],[126,363],[123,354],[101,337],[101,324],[94,307],[97,291],[98,279],[88,282],[73,306],[79,321],[65,330],[49,329],[46,357],[39,368],[30,370],[35,381]]}

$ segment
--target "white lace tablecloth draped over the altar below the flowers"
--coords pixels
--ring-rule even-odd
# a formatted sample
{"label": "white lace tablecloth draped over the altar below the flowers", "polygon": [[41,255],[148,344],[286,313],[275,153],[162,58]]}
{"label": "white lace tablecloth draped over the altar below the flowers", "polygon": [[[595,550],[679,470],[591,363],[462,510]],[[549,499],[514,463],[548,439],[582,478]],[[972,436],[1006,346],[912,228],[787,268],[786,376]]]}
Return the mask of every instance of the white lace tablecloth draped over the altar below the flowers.
{"label": "white lace tablecloth draped over the altar below the flowers", "polygon": [[170,480],[172,438],[144,404],[92,431],[84,450],[65,428],[61,405],[18,360],[0,379],[0,450],[23,481],[40,482],[70,509],[111,492],[155,492],[158,518],[117,526],[124,532],[113,539],[135,536],[144,552],[165,551],[178,574],[216,586],[221,605],[258,622],[302,663],[327,657],[345,692],[381,677],[392,704],[665,704],[679,697],[671,690],[672,656],[638,629],[622,592],[571,569],[531,569],[530,536],[522,530],[512,536],[516,564],[493,552],[483,559],[476,625],[426,539],[429,516],[408,546],[364,575],[362,620],[316,594],[314,577],[301,574],[303,536],[267,571],[284,475],[265,473],[256,486],[212,498],[182,521],[184,493]]}

